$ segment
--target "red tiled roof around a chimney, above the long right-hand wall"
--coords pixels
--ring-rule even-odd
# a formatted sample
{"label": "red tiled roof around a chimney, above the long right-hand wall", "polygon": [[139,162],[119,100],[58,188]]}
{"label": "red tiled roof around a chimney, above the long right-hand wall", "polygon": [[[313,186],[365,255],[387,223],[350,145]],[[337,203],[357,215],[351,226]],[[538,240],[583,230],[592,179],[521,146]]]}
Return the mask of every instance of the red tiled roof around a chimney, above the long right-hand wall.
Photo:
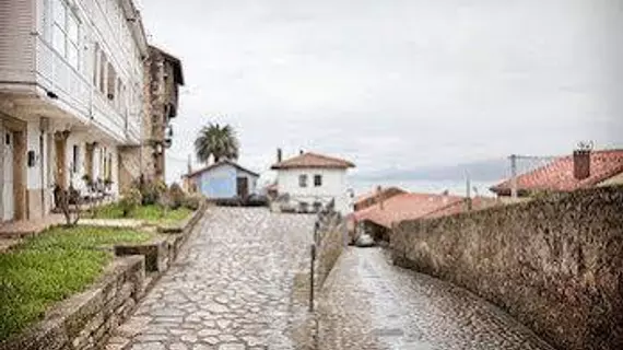
{"label": "red tiled roof around a chimney, above the long right-hand wall", "polygon": [[[572,191],[592,187],[623,173],[623,150],[590,152],[590,176],[578,180],[574,176],[574,156],[559,158],[545,166],[517,176],[517,189]],[[491,187],[498,195],[510,194],[510,179]]]}

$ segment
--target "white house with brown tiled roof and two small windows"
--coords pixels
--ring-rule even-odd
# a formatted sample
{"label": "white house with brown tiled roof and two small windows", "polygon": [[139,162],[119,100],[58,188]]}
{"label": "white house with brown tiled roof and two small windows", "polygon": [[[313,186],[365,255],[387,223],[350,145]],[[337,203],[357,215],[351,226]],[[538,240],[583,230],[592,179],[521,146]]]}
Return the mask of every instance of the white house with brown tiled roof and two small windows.
{"label": "white house with brown tiled roof and two small windows", "polygon": [[354,166],[345,160],[307,152],[284,161],[278,155],[278,163],[271,168],[277,171],[279,195],[287,195],[297,209],[314,211],[334,199],[336,210],[348,213],[352,209],[346,172]]}

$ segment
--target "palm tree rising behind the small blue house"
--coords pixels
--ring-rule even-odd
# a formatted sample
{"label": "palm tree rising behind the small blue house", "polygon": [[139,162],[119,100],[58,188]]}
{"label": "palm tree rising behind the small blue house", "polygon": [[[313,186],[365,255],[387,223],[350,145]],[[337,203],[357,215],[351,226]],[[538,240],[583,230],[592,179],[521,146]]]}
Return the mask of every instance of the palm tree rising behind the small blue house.
{"label": "palm tree rising behind the small blue house", "polygon": [[230,125],[221,127],[210,122],[201,128],[195,140],[195,152],[202,163],[208,163],[210,155],[214,158],[214,162],[223,159],[237,160],[238,148],[238,138]]}

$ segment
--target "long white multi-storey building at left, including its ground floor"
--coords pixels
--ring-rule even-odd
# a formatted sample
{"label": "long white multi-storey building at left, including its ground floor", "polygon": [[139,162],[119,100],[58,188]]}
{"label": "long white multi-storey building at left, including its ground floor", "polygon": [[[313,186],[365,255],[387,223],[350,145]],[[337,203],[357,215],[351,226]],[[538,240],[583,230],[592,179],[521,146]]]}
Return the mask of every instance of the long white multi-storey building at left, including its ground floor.
{"label": "long white multi-storey building at left, including its ground floor", "polygon": [[0,221],[47,214],[55,185],[86,176],[117,194],[149,55],[132,1],[4,0],[0,28]]}

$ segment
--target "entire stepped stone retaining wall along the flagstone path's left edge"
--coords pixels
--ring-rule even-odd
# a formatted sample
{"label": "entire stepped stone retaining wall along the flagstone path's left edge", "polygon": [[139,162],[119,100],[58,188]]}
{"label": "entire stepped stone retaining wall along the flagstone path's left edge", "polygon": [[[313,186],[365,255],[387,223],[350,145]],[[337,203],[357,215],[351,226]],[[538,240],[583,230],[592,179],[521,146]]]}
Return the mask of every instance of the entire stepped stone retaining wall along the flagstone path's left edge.
{"label": "entire stepped stone retaining wall along the flagstone path's left edge", "polygon": [[[205,209],[201,206],[164,238],[115,246],[119,258],[97,283],[57,304],[44,320],[0,343],[0,350],[92,350],[105,346],[111,331],[168,269]],[[153,273],[146,276],[145,271]]]}

